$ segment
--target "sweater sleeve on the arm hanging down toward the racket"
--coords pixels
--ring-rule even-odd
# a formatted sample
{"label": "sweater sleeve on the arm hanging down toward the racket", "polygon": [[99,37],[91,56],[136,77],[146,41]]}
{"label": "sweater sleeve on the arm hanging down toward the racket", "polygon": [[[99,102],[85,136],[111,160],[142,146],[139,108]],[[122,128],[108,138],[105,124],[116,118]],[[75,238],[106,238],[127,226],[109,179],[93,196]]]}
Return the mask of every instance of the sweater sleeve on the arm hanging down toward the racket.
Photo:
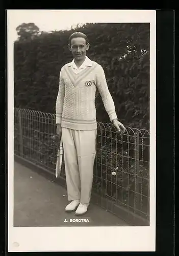
{"label": "sweater sleeve on the arm hanging down toward the racket", "polygon": [[65,97],[65,84],[62,77],[62,69],[61,69],[60,76],[59,76],[59,91],[58,91],[57,100],[56,100],[56,124],[61,123],[64,97]]}

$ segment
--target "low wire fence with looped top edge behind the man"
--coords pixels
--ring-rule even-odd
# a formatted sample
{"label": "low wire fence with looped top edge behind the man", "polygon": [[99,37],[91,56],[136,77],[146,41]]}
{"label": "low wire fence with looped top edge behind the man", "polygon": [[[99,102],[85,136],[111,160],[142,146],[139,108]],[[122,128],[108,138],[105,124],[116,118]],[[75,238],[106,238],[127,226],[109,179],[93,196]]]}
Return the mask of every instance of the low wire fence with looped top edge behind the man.
{"label": "low wire fence with looped top edge behind the man", "polygon": [[[14,154],[54,175],[59,146],[55,122],[55,114],[14,109]],[[123,219],[126,214],[149,224],[149,131],[126,127],[121,135],[112,124],[97,123],[92,190],[105,209],[114,214],[123,209]]]}

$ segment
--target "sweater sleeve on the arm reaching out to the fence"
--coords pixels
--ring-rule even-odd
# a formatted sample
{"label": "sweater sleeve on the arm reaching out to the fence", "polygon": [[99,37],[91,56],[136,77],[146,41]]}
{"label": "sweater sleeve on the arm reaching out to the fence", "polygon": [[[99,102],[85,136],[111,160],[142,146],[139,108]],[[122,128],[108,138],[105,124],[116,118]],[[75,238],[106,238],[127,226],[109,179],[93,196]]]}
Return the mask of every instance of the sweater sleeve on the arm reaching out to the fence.
{"label": "sweater sleeve on the arm reaching out to the fence", "polygon": [[96,87],[103,100],[105,109],[109,115],[110,121],[117,119],[114,101],[108,89],[104,69],[99,65],[96,74]]}

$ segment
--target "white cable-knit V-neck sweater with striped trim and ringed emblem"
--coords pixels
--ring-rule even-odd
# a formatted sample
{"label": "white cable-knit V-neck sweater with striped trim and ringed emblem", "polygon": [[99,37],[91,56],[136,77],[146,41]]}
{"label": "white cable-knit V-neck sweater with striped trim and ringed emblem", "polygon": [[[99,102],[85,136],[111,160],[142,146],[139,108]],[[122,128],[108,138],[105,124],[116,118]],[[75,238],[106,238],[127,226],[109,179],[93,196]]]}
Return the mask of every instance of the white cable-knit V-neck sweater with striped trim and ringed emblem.
{"label": "white cable-knit V-neck sweater with striped trim and ringed emblem", "polygon": [[56,101],[56,123],[73,130],[95,130],[95,93],[99,91],[110,120],[117,119],[103,68],[91,65],[75,74],[67,63],[60,71],[59,92]]}

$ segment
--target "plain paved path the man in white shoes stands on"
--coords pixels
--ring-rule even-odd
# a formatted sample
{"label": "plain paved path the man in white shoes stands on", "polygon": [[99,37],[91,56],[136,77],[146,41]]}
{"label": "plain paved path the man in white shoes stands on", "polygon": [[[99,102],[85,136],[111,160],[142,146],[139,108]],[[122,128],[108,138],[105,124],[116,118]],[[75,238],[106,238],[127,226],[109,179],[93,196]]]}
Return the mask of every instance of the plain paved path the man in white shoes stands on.
{"label": "plain paved path the man in white shoes stands on", "polygon": [[[93,204],[86,215],[76,217],[74,212],[65,212],[67,203],[64,187],[14,162],[14,226],[127,226],[120,218]],[[70,222],[70,219],[81,222]]]}

